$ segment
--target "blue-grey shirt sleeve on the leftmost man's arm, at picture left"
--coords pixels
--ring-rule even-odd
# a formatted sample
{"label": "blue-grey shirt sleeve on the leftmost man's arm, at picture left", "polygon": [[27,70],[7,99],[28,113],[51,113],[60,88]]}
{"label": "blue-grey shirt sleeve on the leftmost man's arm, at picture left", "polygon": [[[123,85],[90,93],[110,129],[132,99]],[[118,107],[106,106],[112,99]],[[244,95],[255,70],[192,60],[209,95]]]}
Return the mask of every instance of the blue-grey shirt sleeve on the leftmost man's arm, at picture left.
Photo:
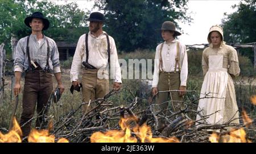
{"label": "blue-grey shirt sleeve on the leftmost man's arm, at picture left", "polygon": [[14,59],[14,72],[23,72],[24,70],[24,62],[25,62],[25,52],[22,47],[22,42],[24,39],[20,39],[16,46],[16,53]]}

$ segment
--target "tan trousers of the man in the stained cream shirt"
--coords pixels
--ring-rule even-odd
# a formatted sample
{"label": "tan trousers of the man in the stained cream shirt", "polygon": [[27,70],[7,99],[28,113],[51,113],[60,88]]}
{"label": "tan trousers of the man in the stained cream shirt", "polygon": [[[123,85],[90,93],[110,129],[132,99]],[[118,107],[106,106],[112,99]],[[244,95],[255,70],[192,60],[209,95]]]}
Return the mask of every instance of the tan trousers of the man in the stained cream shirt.
{"label": "tan trousers of the man in the stained cream shirt", "polygon": [[[82,102],[89,103],[89,101],[103,98],[109,93],[109,80],[99,79],[97,73],[97,69],[82,70]],[[88,113],[93,107],[95,107],[95,103],[83,105],[82,113]],[[95,110],[91,113],[94,112]]]}

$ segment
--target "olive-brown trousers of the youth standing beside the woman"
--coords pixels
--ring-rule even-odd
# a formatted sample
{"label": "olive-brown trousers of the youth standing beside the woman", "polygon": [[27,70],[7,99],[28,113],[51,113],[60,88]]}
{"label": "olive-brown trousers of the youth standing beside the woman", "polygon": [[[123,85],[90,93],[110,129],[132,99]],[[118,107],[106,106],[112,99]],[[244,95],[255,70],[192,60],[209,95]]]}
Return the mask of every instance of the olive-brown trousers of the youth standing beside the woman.
{"label": "olive-brown trousers of the youth standing beside the woman", "polygon": [[[179,72],[160,72],[158,90],[179,90],[180,88],[180,73]],[[179,95],[178,91],[171,91],[166,93],[159,93],[157,99],[157,105],[159,106],[156,110],[162,110],[161,115],[167,114],[168,103],[171,101],[173,111],[179,111],[183,106],[183,97]],[[163,127],[164,120],[159,121],[159,127]]]}

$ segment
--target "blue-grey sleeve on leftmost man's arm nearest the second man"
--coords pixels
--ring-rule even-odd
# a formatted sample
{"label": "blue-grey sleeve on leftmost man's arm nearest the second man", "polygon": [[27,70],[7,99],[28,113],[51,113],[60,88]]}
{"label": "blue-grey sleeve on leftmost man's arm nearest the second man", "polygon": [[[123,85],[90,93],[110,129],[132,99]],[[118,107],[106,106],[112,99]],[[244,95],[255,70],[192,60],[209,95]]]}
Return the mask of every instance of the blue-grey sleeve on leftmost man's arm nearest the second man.
{"label": "blue-grey sleeve on leftmost man's arm nearest the second man", "polygon": [[55,41],[53,41],[51,60],[52,60],[52,66],[53,66],[53,73],[59,73],[60,72],[59,51]]}

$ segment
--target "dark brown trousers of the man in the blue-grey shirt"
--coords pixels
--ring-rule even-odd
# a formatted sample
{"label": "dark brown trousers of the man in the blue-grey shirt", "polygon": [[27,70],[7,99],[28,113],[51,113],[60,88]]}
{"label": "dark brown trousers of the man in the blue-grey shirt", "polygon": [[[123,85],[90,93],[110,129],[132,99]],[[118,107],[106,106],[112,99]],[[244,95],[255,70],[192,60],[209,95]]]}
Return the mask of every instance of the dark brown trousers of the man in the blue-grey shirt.
{"label": "dark brown trousers of the man in the blue-grey shirt", "polygon": [[[25,75],[25,84],[22,99],[22,116],[20,118],[20,126],[22,127],[23,136],[28,136],[31,130],[30,120],[35,113],[38,116],[43,114],[48,99],[52,93],[52,74],[35,70],[35,72],[27,72]],[[47,110],[44,111],[47,114]],[[36,127],[42,128],[47,126],[47,122],[43,122],[42,116],[36,119]]]}

